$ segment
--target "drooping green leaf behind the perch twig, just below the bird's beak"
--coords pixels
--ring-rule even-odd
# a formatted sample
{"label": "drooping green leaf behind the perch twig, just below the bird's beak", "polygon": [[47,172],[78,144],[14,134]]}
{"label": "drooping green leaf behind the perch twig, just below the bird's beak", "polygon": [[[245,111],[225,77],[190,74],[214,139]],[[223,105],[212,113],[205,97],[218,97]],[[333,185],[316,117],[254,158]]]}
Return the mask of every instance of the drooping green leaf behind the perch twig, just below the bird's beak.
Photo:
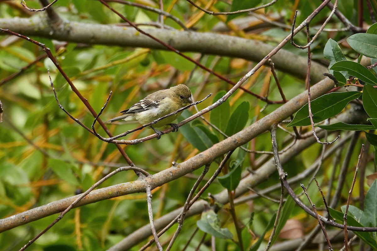
{"label": "drooping green leaf behind the perch twig, just below the bird's beak", "polygon": [[[184,110],[180,118],[183,120],[190,116],[191,113],[187,110]],[[193,145],[201,152],[213,146],[213,142],[211,138],[207,136],[206,132],[202,131],[202,129],[198,126],[193,126],[192,122],[181,126],[181,128],[179,128],[179,131],[191,145]]]}

